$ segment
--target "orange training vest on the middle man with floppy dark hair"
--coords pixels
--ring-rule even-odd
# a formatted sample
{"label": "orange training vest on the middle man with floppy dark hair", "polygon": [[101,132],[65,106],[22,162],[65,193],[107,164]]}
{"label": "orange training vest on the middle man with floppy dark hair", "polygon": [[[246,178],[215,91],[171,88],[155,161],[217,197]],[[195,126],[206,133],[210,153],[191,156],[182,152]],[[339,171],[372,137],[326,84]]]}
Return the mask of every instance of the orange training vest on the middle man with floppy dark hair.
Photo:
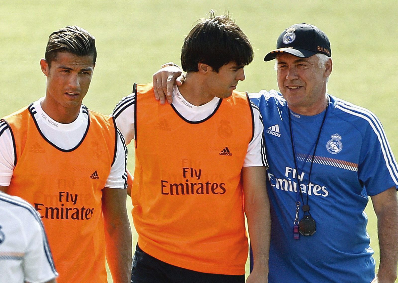
{"label": "orange training vest on the middle man with floppy dark hair", "polygon": [[234,91],[201,122],[153,97],[152,84],[137,85],[131,197],[140,248],[174,266],[244,274],[240,172],[253,138],[248,97]]}

